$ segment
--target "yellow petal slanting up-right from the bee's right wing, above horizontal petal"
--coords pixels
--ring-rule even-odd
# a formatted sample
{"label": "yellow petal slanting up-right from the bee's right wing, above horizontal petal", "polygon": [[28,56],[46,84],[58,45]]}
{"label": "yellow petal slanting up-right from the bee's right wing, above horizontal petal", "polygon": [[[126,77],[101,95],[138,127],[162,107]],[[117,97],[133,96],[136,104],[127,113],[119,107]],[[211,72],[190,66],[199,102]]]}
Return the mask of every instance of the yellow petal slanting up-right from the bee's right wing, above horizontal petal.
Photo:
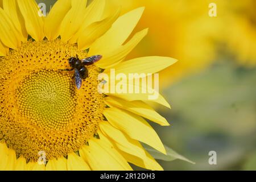
{"label": "yellow petal slanting up-right from the bee's right wing, above horizontal petal", "polygon": [[[137,46],[139,42],[147,35],[148,29],[144,29],[131,38],[124,46],[119,46],[112,52],[106,52],[105,49],[101,49],[98,52],[90,51],[89,55],[102,55],[103,58],[96,63],[97,67],[107,69],[114,67],[120,63],[125,57]],[[115,39],[115,38],[114,38]],[[108,43],[105,43],[108,44]]]}

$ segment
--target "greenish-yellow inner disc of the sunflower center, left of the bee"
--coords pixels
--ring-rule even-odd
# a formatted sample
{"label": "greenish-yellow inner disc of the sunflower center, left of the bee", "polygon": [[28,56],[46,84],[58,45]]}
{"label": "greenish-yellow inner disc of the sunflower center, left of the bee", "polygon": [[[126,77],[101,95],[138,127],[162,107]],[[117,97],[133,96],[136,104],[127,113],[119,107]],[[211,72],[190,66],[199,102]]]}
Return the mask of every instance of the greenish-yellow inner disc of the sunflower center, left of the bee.
{"label": "greenish-yellow inner disc of the sunflower center, left of the bee", "polygon": [[47,70],[32,73],[17,88],[16,96],[20,114],[35,125],[61,129],[72,121],[75,86],[64,73]]}

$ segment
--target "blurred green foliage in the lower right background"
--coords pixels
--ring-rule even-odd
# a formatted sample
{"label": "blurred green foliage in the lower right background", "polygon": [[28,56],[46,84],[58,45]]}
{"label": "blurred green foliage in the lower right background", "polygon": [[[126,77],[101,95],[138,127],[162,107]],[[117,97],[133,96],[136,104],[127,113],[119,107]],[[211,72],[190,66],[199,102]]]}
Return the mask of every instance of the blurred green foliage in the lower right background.
{"label": "blurred green foliage in the lower right background", "polygon": [[[196,162],[162,162],[164,169],[242,169],[256,148],[256,69],[225,57],[209,69],[164,91],[172,110],[160,113],[172,123],[156,130],[167,146]],[[209,165],[208,152],[217,152]]]}

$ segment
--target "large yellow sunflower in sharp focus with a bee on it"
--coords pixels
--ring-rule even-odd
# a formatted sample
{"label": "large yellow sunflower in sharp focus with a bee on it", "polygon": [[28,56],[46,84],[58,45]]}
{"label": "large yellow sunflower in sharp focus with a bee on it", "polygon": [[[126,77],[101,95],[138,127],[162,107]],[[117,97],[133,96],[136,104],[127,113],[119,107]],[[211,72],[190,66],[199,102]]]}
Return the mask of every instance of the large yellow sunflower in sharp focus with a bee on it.
{"label": "large yellow sunflower in sharp focus with a bee on it", "polygon": [[[34,0],[0,6],[0,169],[131,170],[132,163],[161,170],[140,143],[166,154],[146,119],[169,124],[146,104],[148,94],[98,92],[102,72],[156,73],[176,62],[159,56],[124,61],[147,34],[128,39],[144,8],[120,16],[104,0],[59,0],[43,17]],[[63,71],[76,55],[103,56],[87,67],[81,89],[74,73]],[[151,101],[170,107],[161,95]]]}

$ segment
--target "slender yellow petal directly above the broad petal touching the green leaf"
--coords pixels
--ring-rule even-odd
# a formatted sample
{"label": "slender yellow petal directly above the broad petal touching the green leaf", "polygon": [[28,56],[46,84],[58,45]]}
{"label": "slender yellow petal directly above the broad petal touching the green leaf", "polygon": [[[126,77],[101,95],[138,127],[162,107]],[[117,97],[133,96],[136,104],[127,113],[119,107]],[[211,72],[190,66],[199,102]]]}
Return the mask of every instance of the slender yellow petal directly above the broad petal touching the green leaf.
{"label": "slender yellow petal directly above the broad petal touching the green leaf", "polygon": [[115,106],[121,109],[130,111],[131,113],[141,115],[144,118],[150,119],[161,126],[169,126],[166,118],[162,117],[152,107],[142,101],[125,101],[118,97],[106,97],[105,102],[108,106]]}

